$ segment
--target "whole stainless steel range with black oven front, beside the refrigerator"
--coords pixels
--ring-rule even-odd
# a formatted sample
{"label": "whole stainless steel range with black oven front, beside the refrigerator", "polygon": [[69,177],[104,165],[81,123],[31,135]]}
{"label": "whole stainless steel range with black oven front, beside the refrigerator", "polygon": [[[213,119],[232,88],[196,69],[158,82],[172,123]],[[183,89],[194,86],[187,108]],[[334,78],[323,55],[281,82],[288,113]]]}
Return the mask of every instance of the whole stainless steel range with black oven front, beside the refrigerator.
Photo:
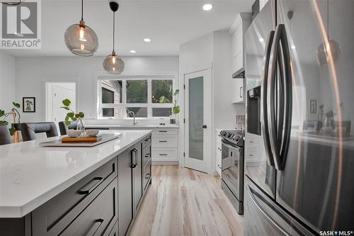
{"label": "whole stainless steel range with black oven front, beside the refrigerator", "polygon": [[237,210],[244,213],[244,133],[222,130],[222,189]]}

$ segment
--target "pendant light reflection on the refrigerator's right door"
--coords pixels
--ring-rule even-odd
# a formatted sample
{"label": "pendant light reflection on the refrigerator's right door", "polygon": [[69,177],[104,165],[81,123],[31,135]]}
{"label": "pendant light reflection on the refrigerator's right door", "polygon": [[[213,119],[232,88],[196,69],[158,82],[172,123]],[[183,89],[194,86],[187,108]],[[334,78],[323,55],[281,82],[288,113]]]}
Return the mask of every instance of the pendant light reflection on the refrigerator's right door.
{"label": "pendant light reflection on the refrigerator's right door", "polygon": [[338,60],[339,55],[341,54],[341,48],[339,43],[335,40],[329,38],[329,0],[327,1],[327,40],[326,42],[321,43],[317,49],[317,60],[319,64],[328,64],[330,55],[333,57],[333,61]]}

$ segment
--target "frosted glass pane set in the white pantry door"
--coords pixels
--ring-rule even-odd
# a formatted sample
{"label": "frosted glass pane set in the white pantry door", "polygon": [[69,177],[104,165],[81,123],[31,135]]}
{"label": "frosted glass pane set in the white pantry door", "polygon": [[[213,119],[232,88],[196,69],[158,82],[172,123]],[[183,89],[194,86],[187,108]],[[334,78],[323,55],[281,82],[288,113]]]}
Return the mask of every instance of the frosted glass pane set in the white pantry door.
{"label": "frosted glass pane set in the white pantry door", "polygon": [[203,159],[203,77],[189,79],[189,157]]}

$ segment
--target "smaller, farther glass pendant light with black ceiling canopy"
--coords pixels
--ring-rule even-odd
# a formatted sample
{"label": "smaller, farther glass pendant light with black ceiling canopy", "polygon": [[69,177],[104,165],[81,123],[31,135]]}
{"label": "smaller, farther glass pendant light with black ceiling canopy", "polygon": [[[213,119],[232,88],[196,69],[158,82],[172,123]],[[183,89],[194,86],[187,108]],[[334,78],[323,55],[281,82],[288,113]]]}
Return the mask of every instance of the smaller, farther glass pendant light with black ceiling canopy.
{"label": "smaller, farther glass pendant light with black ceiling canopy", "polygon": [[111,55],[105,57],[103,61],[103,68],[109,74],[121,74],[124,70],[123,60],[115,54],[114,50],[114,33],[115,33],[115,11],[118,11],[119,4],[115,1],[110,1],[110,10],[113,11],[113,52]]}

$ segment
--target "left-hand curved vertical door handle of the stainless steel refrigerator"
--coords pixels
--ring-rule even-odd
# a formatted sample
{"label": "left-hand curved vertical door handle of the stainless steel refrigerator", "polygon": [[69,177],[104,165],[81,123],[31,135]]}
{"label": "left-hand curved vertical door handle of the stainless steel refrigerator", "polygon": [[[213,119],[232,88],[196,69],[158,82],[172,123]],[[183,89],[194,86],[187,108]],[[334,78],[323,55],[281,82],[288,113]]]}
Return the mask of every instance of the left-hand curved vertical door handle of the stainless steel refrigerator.
{"label": "left-hand curved vertical door handle of the stainless steel refrigerator", "polygon": [[268,34],[267,43],[265,45],[265,53],[263,57],[263,73],[262,73],[262,89],[261,89],[261,125],[262,125],[262,137],[265,147],[265,152],[267,156],[267,162],[270,166],[274,166],[274,161],[272,158],[272,151],[270,147],[269,133],[268,133],[268,105],[267,105],[267,96],[268,96],[268,69],[269,69],[269,57],[270,50],[273,43],[274,31],[270,31]]}

